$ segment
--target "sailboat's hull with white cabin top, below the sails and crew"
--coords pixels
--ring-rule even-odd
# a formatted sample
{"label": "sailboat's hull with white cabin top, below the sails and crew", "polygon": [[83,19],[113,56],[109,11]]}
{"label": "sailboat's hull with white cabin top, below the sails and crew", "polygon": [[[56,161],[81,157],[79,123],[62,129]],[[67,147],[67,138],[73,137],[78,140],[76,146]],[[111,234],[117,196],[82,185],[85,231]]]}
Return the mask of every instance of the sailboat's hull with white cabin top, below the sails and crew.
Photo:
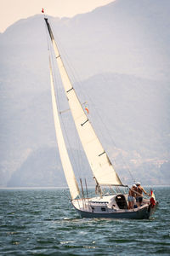
{"label": "sailboat's hull with white cabin top, below the sails and crew", "polygon": [[[156,211],[155,207],[150,206],[149,200],[144,200],[141,207],[127,209],[127,195],[122,195],[125,201],[116,202],[116,197],[120,195],[108,195],[102,199],[94,197],[90,199],[73,200],[72,205],[82,218],[150,218]],[[135,203],[135,202],[134,202]],[[119,206],[118,206],[119,205]],[[135,206],[135,205],[134,205]]]}

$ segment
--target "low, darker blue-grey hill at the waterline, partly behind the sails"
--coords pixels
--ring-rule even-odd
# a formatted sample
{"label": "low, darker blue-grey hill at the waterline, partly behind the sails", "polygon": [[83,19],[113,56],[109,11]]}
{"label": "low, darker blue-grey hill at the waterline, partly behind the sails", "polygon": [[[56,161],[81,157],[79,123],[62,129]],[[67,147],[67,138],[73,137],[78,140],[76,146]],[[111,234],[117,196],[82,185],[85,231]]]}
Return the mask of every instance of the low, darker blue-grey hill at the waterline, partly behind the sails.
{"label": "low, darker blue-grey hill at the waterline, partly behind the sails", "polygon": [[[76,151],[74,154],[78,154]],[[82,161],[83,170],[88,173],[88,184],[92,184],[92,175],[88,165]],[[76,176],[79,177],[77,166],[72,163]],[[50,167],[50,168],[49,168]],[[55,148],[38,148],[8,180],[8,187],[66,187],[64,172]]]}

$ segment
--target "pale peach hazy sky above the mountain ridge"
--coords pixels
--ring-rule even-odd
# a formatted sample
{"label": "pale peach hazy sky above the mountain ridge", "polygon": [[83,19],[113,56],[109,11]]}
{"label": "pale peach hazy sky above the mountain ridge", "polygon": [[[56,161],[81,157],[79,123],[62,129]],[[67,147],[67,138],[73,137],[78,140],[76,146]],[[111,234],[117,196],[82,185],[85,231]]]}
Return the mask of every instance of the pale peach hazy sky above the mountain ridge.
{"label": "pale peach hazy sky above the mountain ridge", "polygon": [[22,18],[40,14],[72,17],[86,13],[114,0],[0,0],[0,32]]}

